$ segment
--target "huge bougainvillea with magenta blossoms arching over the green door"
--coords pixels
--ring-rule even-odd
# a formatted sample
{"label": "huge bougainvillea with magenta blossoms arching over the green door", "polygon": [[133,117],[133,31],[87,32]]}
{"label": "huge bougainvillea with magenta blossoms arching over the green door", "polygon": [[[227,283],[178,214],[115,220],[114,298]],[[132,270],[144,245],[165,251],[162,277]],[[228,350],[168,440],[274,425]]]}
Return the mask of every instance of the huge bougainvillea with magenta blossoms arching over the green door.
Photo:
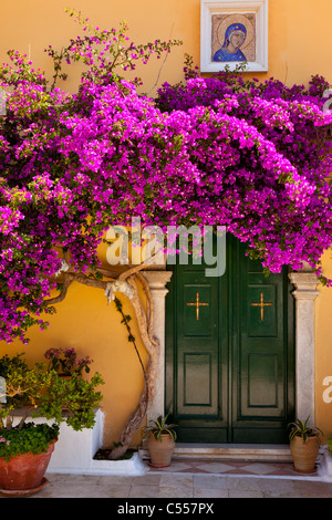
{"label": "huge bougainvillea with magenta blossoms arching over the green door", "polygon": [[[184,82],[153,100],[122,74],[180,42],[135,45],[125,23],[104,31],[71,14],[83,35],[46,49],[51,80],[14,51],[0,69],[0,340],[28,342],[31,325],[45,327],[73,280],[104,289],[97,246],[132,217],[226,226],[266,270],[308,262],[330,284],[320,267],[332,241],[325,80],[207,79],[188,59]],[[73,61],[83,72],[69,94],[58,85]]]}

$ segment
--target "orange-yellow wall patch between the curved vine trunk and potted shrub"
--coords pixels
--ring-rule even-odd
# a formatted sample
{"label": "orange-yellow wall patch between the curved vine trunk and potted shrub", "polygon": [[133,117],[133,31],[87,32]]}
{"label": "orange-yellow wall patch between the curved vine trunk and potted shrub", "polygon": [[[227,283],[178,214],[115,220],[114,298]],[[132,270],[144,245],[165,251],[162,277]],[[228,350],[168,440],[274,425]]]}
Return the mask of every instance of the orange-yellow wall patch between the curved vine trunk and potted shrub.
{"label": "orange-yellow wall patch between the curved vine trunk and potted shrub", "polygon": [[[144,301],[141,291],[139,288]],[[146,364],[146,351],[132,304],[121,293],[116,297],[122,301],[123,312],[133,318],[132,333],[143,363]],[[90,356],[93,360],[91,373],[100,372],[105,382],[97,389],[103,394],[104,444],[112,446],[113,441],[118,440],[121,429],[136,408],[143,391],[143,372],[134,345],[127,341],[128,333],[121,323],[122,316],[115,310],[115,303],[110,302],[107,306],[102,290],[73,283],[65,300],[55,306],[56,313],[45,316],[50,323],[45,331],[31,327],[28,345],[22,345],[20,341],[9,345],[0,342],[0,356],[24,352],[28,364],[48,363],[44,352],[51,347],[73,347],[79,357]],[[133,444],[138,445],[141,440],[141,431],[137,431]]]}

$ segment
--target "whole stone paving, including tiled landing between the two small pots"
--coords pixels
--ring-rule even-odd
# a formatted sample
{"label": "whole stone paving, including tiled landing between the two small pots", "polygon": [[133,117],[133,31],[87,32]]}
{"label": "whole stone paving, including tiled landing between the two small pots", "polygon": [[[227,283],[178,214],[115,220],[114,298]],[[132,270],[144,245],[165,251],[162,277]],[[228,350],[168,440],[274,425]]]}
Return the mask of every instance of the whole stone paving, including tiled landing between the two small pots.
{"label": "whole stone paving, including tiled landing between the two small pots", "polygon": [[319,472],[301,476],[288,462],[175,460],[146,469],[135,477],[46,474],[49,485],[30,498],[332,498],[332,482]]}

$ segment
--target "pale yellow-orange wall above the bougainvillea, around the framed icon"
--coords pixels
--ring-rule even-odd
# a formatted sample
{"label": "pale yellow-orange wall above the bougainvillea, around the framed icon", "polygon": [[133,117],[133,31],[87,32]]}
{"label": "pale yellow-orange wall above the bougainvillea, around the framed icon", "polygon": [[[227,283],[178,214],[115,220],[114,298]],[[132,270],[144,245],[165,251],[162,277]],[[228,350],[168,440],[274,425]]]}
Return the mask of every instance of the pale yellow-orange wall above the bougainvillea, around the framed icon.
{"label": "pale yellow-orange wall above the bougainvillea, around the framed icon", "polygon": [[[184,42],[167,58],[159,84],[175,83],[183,77],[184,53],[194,56],[199,64],[200,0],[17,0],[1,2],[0,60],[7,49],[29,53],[42,70],[50,70],[51,61],[43,50],[52,44],[61,46],[79,33],[79,25],[64,13],[66,7],[82,11],[93,25],[118,27],[125,20],[134,42],[155,39],[179,39]],[[328,79],[332,75],[332,46],[330,20],[332,6],[329,0],[270,0],[269,1],[269,71],[256,73],[264,79],[277,77],[291,83],[305,83],[311,74]],[[139,70],[149,91],[157,79],[160,62],[151,62]],[[332,80],[331,80],[332,81]],[[75,77],[66,89],[75,89]],[[155,91],[154,91],[155,92]]]}

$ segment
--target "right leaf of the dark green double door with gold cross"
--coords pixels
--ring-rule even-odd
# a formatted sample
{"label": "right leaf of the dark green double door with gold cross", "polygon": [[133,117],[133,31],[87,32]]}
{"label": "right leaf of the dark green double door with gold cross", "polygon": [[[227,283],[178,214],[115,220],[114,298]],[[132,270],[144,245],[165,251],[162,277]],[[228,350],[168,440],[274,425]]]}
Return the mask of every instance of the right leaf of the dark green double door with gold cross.
{"label": "right leaf of the dark green double door with gold cross", "polygon": [[258,261],[245,257],[243,246],[238,251],[235,285],[240,312],[239,340],[234,351],[232,440],[286,443],[294,403],[293,398],[289,402],[293,341],[288,314],[293,302],[288,299],[288,273],[267,278]]}

